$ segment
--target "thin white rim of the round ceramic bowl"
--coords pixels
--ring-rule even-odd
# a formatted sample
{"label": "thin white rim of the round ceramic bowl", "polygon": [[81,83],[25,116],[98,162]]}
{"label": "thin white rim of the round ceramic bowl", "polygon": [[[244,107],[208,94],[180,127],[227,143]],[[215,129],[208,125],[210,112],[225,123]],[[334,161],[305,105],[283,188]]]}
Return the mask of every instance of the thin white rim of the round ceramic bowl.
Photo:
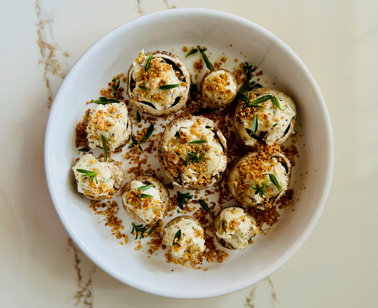
{"label": "thin white rim of the round ceramic bowl", "polygon": [[87,255],[87,257],[94,262],[99,268],[104,270],[109,275],[115,277],[117,280],[125,283],[126,285],[135,287],[138,290],[142,290],[145,292],[149,292],[154,295],[160,295],[163,297],[172,297],[172,298],[180,298],[180,299],[199,299],[199,298],[207,298],[207,297],[216,297],[221,295],[226,295],[232,292],[236,292],[238,290],[242,290],[245,287],[249,287],[250,285],[254,285],[255,283],[259,282],[260,280],[264,279],[265,277],[271,275],[274,273],[278,268],[280,268],[282,265],[287,263],[287,261],[301,248],[301,246],[304,244],[310,233],[313,231],[313,229],[316,226],[316,223],[318,222],[323,209],[326,205],[326,201],[328,199],[328,194],[330,192],[330,185],[332,183],[332,177],[333,177],[333,166],[334,166],[334,145],[333,145],[333,131],[332,131],[332,125],[330,121],[330,116],[328,114],[328,109],[326,107],[326,102],[323,99],[323,95],[321,94],[321,90],[318,87],[318,84],[316,83],[315,79],[311,75],[311,72],[308,70],[304,62],[299,58],[298,55],[294,52],[294,50],[291,50],[289,46],[284,43],[281,39],[279,39],[276,35],[268,31],[267,29],[263,28],[262,26],[258,25],[257,23],[254,23],[253,21],[250,21],[246,18],[236,16],[232,13],[226,13],[223,11],[216,11],[212,9],[168,9],[164,11],[157,11],[155,13],[150,13],[145,16],[140,16],[138,18],[135,18],[133,20],[130,20],[126,23],[121,24],[120,26],[114,28],[113,30],[109,31],[105,35],[103,35],[101,38],[96,40],[94,44],[92,44],[78,59],[76,62],[74,62],[74,65],[72,65],[70,72],[68,72],[67,76],[63,80],[60,89],[58,90],[56,97],[54,99],[54,102],[59,99],[61,95],[62,88],[64,88],[65,83],[67,82],[67,79],[70,79],[71,75],[74,75],[77,70],[80,68],[80,63],[83,62],[85,57],[88,57],[88,55],[91,54],[91,50],[95,50],[96,45],[101,45],[102,41],[106,39],[109,35],[117,35],[118,32],[125,31],[125,28],[128,28],[130,26],[136,26],[138,24],[143,24],[145,21],[154,21],[154,20],[160,20],[162,18],[170,18],[172,16],[177,17],[177,15],[184,15],[184,16],[190,16],[190,15],[202,15],[206,17],[216,17],[216,18],[224,18],[228,21],[233,21],[236,23],[243,23],[243,25],[248,26],[250,28],[253,28],[255,31],[262,33],[262,35],[265,35],[269,38],[274,40],[275,44],[279,45],[279,48],[282,48],[285,50],[285,52],[290,55],[290,57],[296,62],[297,65],[301,68],[302,72],[304,72],[304,76],[306,78],[306,82],[308,84],[311,84],[313,91],[316,94],[316,101],[319,103],[319,107],[321,110],[321,116],[324,119],[324,122],[326,123],[325,131],[326,131],[326,158],[327,161],[326,164],[326,180],[323,183],[323,189],[321,196],[318,199],[318,203],[316,206],[316,209],[313,211],[313,215],[309,219],[309,223],[306,226],[306,229],[297,236],[296,241],[293,241],[289,244],[287,250],[275,260],[274,263],[271,263],[269,266],[265,268],[265,270],[260,270],[259,275],[254,275],[250,280],[245,280],[243,282],[236,282],[233,285],[229,287],[223,287],[219,289],[211,289],[211,290],[203,290],[202,292],[193,293],[188,290],[188,292],[169,292],[169,290],[162,290],[162,289],[156,289],[153,287],[150,287],[148,285],[143,285],[142,283],[135,282],[135,280],[130,279],[129,277],[125,277],[120,275],[116,270],[113,270],[109,267],[109,265],[104,264],[94,253],[91,253],[89,249],[87,249],[86,244],[79,238],[78,234],[74,231],[74,229],[71,228],[70,224],[68,223],[65,213],[62,211],[62,208],[60,207],[60,202],[57,198],[57,194],[55,191],[55,185],[52,181],[52,173],[51,173],[51,160],[49,155],[49,148],[50,148],[50,139],[51,139],[51,126],[52,122],[54,121],[54,114],[55,109],[57,109],[57,104],[52,104],[50,115],[48,119],[48,124],[46,127],[46,133],[45,133],[45,150],[44,150],[44,157],[45,157],[45,175],[46,180],[48,182],[48,189],[50,191],[50,195],[52,198],[52,203],[54,204],[54,207],[57,211],[58,216],[60,217],[60,220],[62,221],[62,224],[65,226],[65,229],[67,230],[67,233],[69,233],[70,238],[74,241],[74,243],[79,246],[79,248]]}

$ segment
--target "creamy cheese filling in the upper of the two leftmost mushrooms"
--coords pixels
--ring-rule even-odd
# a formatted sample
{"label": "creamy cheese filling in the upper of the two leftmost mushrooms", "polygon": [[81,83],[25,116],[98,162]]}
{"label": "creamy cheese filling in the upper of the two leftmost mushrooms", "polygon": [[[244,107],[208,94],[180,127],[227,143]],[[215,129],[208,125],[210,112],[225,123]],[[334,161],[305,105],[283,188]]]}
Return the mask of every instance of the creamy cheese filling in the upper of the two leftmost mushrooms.
{"label": "creamy cheese filling in the upper of the two leftmost mushrooms", "polygon": [[102,147],[101,135],[109,150],[118,148],[128,138],[128,109],[124,103],[99,105],[89,114],[87,135],[89,148]]}

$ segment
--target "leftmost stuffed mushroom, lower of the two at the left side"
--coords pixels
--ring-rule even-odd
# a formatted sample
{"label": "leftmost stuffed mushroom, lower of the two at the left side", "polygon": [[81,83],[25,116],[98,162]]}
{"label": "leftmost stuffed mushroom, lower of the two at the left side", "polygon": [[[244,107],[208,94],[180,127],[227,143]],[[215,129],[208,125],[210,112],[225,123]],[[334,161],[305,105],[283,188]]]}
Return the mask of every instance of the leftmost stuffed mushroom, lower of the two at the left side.
{"label": "leftmost stuffed mushroom, lower of the two at the left side", "polygon": [[111,199],[123,183],[123,169],[111,158],[105,161],[104,157],[84,154],[72,170],[77,191],[88,199]]}

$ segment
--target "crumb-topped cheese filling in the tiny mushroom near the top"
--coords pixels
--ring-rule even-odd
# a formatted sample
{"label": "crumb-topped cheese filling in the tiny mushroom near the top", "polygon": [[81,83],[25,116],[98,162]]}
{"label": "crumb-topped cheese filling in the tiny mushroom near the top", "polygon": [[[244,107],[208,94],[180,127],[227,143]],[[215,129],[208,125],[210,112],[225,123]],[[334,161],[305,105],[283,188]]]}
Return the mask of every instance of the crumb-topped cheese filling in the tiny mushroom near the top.
{"label": "crumb-topped cheese filling in the tiny mushroom near the top", "polygon": [[238,84],[228,72],[218,70],[205,77],[203,91],[210,101],[229,100],[238,92]]}

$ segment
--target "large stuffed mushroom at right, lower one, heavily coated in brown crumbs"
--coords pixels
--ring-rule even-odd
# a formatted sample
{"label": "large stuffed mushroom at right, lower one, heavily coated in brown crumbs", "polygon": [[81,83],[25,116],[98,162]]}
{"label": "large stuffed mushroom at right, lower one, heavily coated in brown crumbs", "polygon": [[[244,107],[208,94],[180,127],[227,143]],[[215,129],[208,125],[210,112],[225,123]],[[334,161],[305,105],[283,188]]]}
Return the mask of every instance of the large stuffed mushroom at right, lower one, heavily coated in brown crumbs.
{"label": "large stuffed mushroom at right, lower one, heavily coated in brown crumbs", "polygon": [[282,153],[252,152],[230,171],[228,187],[240,204],[263,210],[289,188],[290,175],[291,164]]}

